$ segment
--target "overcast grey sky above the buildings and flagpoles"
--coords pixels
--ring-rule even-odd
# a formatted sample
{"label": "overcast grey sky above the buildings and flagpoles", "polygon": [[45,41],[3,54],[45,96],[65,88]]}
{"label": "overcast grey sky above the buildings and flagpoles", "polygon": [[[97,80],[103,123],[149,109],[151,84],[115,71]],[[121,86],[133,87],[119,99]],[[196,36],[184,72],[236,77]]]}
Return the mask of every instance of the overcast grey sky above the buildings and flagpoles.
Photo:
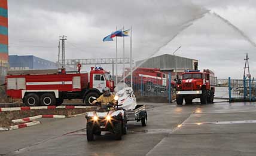
{"label": "overcast grey sky above the buildings and flagpoles", "polygon": [[[181,45],[176,54],[199,60],[200,69],[213,69],[219,78],[241,78],[248,53],[255,77],[256,48],[211,14],[220,14],[256,42],[255,8],[253,0],[8,0],[9,53],[56,62],[59,35],[66,35],[68,59],[115,57],[115,42],[102,38],[116,26],[132,26],[135,61],[172,54]],[[118,39],[120,57],[122,42]],[[125,42],[129,56],[129,38]]]}

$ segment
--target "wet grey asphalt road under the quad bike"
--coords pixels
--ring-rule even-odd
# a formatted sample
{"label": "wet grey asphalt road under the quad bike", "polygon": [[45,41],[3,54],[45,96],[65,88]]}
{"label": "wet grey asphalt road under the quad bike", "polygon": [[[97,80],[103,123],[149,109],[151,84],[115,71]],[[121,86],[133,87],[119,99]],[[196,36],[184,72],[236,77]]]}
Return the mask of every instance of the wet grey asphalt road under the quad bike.
{"label": "wet grey asphalt road under the quad bike", "polygon": [[0,154],[256,155],[256,103],[145,104],[147,127],[129,122],[122,140],[105,133],[87,142],[84,115],[42,119],[38,126],[0,132]]}

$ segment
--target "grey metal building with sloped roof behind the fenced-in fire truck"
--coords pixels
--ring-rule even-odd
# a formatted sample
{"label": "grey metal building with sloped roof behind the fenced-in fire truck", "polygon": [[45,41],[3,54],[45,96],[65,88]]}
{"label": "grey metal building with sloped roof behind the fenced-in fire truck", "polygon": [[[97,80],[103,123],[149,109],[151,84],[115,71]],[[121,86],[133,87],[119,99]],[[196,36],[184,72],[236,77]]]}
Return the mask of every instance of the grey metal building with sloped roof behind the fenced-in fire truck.
{"label": "grey metal building with sloped roof behind the fenced-in fire truck", "polygon": [[[175,58],[176,57],[176,58]],[[175,63],[176,60],[176,63]],[[139,66],[145,60],[139,60],[136,62],[136,66]],[[176,68],[175,68],[176,65]],[[151,57],[146,60],[141,68],[160,68],[162,71],[184,72],[184,70],[194,70],[198,68],[198,60],[189,59],[180,56],[173,56],[170,54],[163,54],[156,57]],[[176,71],[175,71],[176,69]]]}

